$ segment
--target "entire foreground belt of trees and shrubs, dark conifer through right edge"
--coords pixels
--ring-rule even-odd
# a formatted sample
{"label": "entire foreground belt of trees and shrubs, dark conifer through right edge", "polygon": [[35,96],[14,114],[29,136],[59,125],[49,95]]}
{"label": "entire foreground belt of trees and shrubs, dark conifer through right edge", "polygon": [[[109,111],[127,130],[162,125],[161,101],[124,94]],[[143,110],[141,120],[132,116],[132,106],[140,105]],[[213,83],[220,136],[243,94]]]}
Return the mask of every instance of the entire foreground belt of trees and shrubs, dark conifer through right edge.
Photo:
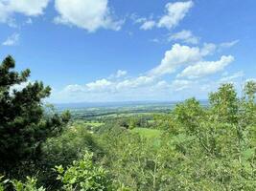
{"label": "entire foreground belt of trees and shrubs, dark conifer through right edge", "polygon": [[88,132],[81,124],[43,110],[50,88],[26,82],[29,71],[0,65],[0,191],[248,190],[256,187],[256,82],[238,96],[232,84],[191,98],[153,125],[160,138],[134,134],[147,120],[107,120]]}

